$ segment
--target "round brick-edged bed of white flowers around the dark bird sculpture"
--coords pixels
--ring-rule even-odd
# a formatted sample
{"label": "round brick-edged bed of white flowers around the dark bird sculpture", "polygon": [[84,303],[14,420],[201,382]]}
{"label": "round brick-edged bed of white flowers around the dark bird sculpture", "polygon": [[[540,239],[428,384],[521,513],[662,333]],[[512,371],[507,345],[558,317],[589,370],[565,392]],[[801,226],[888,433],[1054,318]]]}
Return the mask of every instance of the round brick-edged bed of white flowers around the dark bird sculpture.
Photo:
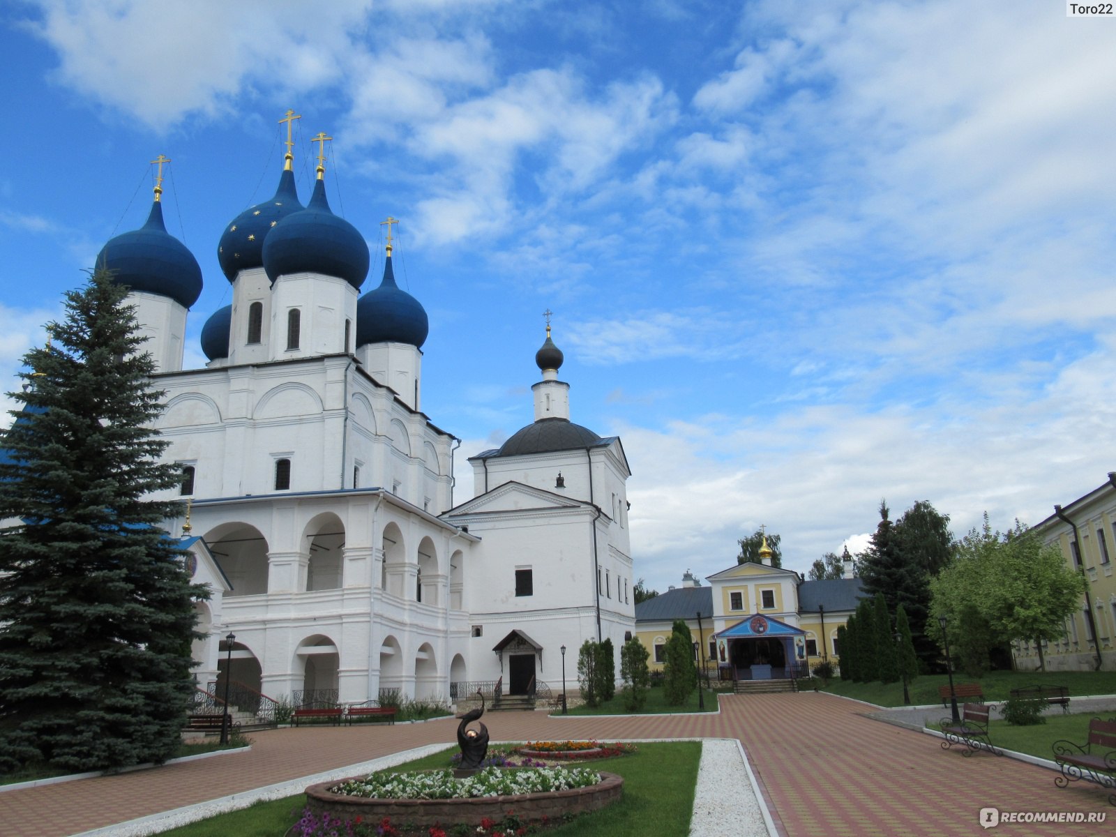
{"label": "round brick-edged bed of white flowers around the dark bird sculpture", "polygon": [[[547,775],[538,776],[538,775]],[[484,779],[479,777],[485,777]],[[522,777],[516,775],[525,775]],[[531,776],[537,775],[537,776]],[[581,781],[589,782],[589,777],[596,781],[584,787],[573,787],[570,775],[587,775]],[[424,779],[400,779],[398,777],[430,776]],[[477,781],[474,781],[477,780]],[[406,785],[404,785],[404,781]],[[369,783],[371,782],[371,783]],[[450,782],[465,786],[472,796],[443,796],[448,792]],[[358,788],[374,787],[387,789],[397,786],[400,792],[404,787],[406,792],[429,793],[427,798],[373,798],[356,796]],[[554,790],[525,791],[527,787],[554,787]],[[624,779],[615,773],[596,773],[589,770],[566,770],[565,768],[538,768],[531,770],[500,770],[489,768],[477,776],[466,779],[452,779],[451,771],[431,771],[430,773],[386,773],[347,779],[343,782],[323,782],[306,789],[307,808],[316,816],[328,814],[343,820],[379,822],[391,818],[393,822],[408,822],[416,826],[441,826],[466,822],[480,826],[482,820],[502,820],[509,810],[525,821],[541,822],[559,820],[570,814],[604,808],[618,801],[624,788]],[[338,792],[345,790],[346,792]]]}

